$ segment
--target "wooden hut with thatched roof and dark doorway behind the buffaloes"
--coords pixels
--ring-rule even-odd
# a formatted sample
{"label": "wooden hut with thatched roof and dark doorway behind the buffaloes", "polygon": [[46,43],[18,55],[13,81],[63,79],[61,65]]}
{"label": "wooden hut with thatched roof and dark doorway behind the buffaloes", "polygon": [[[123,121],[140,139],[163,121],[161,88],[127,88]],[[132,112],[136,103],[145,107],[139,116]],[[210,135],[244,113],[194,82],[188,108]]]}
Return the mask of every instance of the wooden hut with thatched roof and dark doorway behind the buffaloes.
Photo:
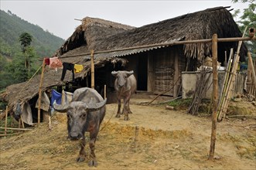
{"label": "wooden hut with thatched roof and dark doorway behind the buffaloes", "polygon": [[[205,57],[211,56],[211,43],[145,45],[210,39],[214,33],[220,38],[242,36],[227,8],[208,8],[140,28],[87,17],[53,56],[58,56],[63,62],[84,65],[84,71],[76,74],[77,86],[90,87],[90,49],[94,49],[95,87],[99,87],[99,92],[104,84],[108,92],[113,90],[112,70],[134,70],[138,91],[162,93],[174,87],[166,94],[176,97],[181,86],[181,72],[195,70]],[[138,48],[131,48],[135,46]],[[219,62],[224,63],[224,53],[227,51],[228,55],[230,48],[236,49],[237,42],[218,42]],[[243,44],[240,53],[242,61],[246,52]],[[61,72],[47,70],[45,75],[43,90],[67,85],[72,80],[71,73],[63,82],[60,81]],[[176,81],[179,83],[175,85]],[[37,97],[38,89],[39,76],[36,76],[29,82],[8,87],[5,100],[12,109],[17,100],[26,102]]]}

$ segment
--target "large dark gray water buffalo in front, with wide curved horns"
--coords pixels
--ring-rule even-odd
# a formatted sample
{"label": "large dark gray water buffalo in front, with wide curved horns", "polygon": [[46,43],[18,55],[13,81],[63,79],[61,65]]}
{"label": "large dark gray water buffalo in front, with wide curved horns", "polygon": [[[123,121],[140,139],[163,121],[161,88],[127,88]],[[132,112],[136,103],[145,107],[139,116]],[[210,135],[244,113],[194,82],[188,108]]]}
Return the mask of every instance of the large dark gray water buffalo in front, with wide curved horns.
{"label": "large dark gray water buffalo in front, with wide curved horns", "polygon": [[89,166],[97,166],[94,146],[100,124],[106,112],[107,99],[103,100],[96,90],[87,87],[77,89],[73,92],[70,104],[59,105],[54,102],[53,107],[60,112],[67,112],[68,138],[71,140],[81,139],[80,154],[77,162],[83,162],[86,158],[84,146],[86,144],[84,133],[90,132],[90,162]]}

